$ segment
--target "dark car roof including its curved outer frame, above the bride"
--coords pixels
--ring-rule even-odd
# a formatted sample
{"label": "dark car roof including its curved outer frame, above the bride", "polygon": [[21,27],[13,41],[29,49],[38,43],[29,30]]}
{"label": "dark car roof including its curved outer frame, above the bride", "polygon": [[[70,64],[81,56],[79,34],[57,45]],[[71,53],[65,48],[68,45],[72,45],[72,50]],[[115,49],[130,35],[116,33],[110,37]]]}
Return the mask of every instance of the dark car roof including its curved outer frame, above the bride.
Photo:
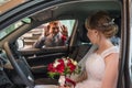
{"label": "dark car roof including its curved outer frame, above the bride", "polygon": [[[0,30],[19,19],[31,16],[33,20],[53,20],[63,18],[84,18],[98,10],[107,10],[119,16],[119,0],[38,0],[28,1],[0,14]],[[15,18],[14,18],[15,15]]]}

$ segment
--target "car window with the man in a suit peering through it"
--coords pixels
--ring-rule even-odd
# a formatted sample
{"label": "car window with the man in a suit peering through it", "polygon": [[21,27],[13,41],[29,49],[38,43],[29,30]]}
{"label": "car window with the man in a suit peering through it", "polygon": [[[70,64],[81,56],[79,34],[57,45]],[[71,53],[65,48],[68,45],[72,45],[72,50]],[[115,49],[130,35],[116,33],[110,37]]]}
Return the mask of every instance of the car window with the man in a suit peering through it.
{"label": "car window with the man in a suit peering through it", "polygon": [[59,20],[47,22],[32,29],[20,37],[24,42],[23,48],[66,46],[72,35],[74,23],[75,20]]}

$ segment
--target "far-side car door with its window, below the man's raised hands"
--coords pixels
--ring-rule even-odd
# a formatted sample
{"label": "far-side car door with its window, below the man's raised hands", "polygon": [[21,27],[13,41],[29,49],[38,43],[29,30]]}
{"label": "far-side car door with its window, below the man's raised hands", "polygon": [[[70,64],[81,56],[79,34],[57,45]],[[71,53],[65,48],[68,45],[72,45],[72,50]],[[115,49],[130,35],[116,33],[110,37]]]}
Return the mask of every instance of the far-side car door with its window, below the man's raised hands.
{"label": "far-side car door with its window, below the man's raised hands", "polygon": [[72,52],[72,47],[69,46],[69,44],[70,38],[74,38],[72,37],[72,34],[73,31],[76,31],[74,26],[76,25],[77,22],[75,20],[59,20],[59,21],[64,23],[68,30],[66,44],[63,46],[62,45],[43,46],[40,48],[33,47],[33,44],[36,43],[37,40],[43,35],[42,31],[45,30],[44,26],[46,26],[45,24],[47,23],[43,23],[40,26],[24,33],[22,36],[19,37],[23,38],[24,46],[18,50],[22,54],[22,56],[26,59],[28,64],[30,65],[34,74],[44,74],[47,68],[46,66],[50,63],[54,62],[56,58],[67,57]]}

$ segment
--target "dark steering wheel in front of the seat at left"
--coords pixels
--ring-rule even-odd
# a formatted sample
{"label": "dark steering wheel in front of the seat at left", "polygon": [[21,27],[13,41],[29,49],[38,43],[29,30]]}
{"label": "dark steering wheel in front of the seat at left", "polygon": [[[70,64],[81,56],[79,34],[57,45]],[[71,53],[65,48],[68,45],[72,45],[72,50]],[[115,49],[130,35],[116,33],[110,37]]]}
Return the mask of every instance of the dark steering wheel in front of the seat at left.
{"label": "dark steering wheel in front of the seat at left", "polygon": [[34,88],[34,78],[26,63],[23,62],[21,58],[15,59],[13,53],[11,52],[9,42],[4,43],[4,50],[11,65],[14,67],[14,70],[16,70],[18,75],[21,77],[23,84],[29,88]]}

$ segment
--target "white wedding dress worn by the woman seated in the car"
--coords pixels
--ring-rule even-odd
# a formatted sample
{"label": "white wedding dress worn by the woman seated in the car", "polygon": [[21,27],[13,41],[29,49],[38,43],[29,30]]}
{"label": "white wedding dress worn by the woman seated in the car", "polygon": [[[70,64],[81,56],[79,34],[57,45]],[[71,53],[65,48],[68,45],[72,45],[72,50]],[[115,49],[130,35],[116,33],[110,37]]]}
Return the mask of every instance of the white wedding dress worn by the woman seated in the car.
{"label": "white wedding dress worn by the woman seated in the car", "polygon": [[88,79],[82,82],[78,82],[75,88],[101,88],[101,81],[106,67],[105,57],[111,53],[119,53],[119,47],[112,46],[102,52],[100,55],[97,53],[88,54],[85,59]]}

